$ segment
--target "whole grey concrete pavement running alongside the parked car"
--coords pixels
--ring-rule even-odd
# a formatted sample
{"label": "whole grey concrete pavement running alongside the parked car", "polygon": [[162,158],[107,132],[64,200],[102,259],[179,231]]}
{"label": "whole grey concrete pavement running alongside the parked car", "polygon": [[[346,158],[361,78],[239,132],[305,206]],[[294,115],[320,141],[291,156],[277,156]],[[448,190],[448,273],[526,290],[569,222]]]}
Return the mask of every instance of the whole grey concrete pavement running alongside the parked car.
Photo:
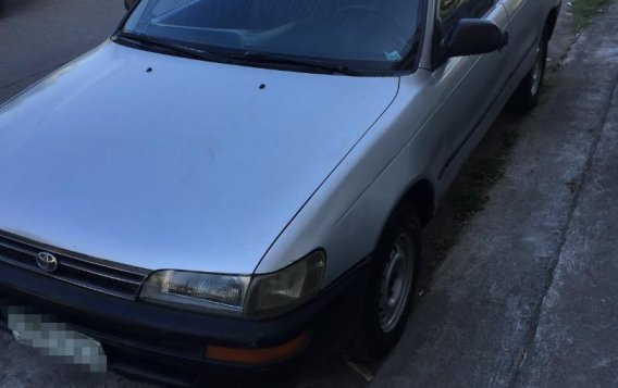
{"label": "whole grey concrete pavement running alongside the parked car", "polygon": [[373,387],[618,385],[616,25],[580,36]]}

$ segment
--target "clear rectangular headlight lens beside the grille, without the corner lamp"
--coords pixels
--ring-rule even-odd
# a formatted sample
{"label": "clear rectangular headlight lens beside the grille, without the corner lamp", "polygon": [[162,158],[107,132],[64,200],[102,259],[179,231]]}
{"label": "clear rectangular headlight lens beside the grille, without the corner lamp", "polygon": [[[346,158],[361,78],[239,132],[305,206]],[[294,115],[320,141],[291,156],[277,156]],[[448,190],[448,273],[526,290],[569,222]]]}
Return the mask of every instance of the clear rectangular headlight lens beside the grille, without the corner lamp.
{"label": "clear rectangular headlight lens beside the grille, without the corner lamp", "polygon": [[139,298],[178,308],[242,315],[250,279],[250,276],[159,271],[148,277]]}

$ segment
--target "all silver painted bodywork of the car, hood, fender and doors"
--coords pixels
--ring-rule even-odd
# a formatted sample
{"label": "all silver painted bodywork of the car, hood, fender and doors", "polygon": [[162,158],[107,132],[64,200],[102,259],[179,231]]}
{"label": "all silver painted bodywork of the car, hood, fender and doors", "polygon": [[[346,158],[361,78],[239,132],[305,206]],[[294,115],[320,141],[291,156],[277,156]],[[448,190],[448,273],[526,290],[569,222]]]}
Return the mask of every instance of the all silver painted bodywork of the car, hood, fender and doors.
{"label": "all silver painted bodywork of the car, hood, fender and doors", "polygon": [[435,70],[428,23],[421,68],[400,77],[106,42],[0,110],[0,230],[137,267],[230,274],[323,248],[327,285],[372,252],[413,184],[429,182],[437,202],[530,71],[526,45],[554,5],[499,1],[486,17],[509,46]]}

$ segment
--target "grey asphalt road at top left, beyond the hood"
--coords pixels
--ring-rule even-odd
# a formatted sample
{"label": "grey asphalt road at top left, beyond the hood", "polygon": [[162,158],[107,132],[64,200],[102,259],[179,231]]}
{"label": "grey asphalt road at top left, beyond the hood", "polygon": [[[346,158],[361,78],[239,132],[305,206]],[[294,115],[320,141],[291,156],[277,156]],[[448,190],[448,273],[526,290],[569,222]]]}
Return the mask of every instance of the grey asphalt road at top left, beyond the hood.
{"label": "grey asphalt road at top left, beyond the hood", "polygon": [[7,0],[0,101],[102,42],[123,14],[122,0]]}

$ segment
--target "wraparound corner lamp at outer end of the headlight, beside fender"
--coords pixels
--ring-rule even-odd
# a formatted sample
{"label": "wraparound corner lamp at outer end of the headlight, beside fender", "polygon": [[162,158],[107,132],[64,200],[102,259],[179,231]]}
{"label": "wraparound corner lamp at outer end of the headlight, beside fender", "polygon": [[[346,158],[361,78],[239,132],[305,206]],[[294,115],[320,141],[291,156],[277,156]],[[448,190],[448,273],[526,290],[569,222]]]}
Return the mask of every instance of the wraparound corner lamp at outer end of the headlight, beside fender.
{"label": "wraparound corner lamp at outer end of the headlight, beside fender", "polygon": [[245,316],[270,317],[302,304],[320,289],[325,266],[324,252],[316,251],[280,272],[256,276],[245,303]]}

